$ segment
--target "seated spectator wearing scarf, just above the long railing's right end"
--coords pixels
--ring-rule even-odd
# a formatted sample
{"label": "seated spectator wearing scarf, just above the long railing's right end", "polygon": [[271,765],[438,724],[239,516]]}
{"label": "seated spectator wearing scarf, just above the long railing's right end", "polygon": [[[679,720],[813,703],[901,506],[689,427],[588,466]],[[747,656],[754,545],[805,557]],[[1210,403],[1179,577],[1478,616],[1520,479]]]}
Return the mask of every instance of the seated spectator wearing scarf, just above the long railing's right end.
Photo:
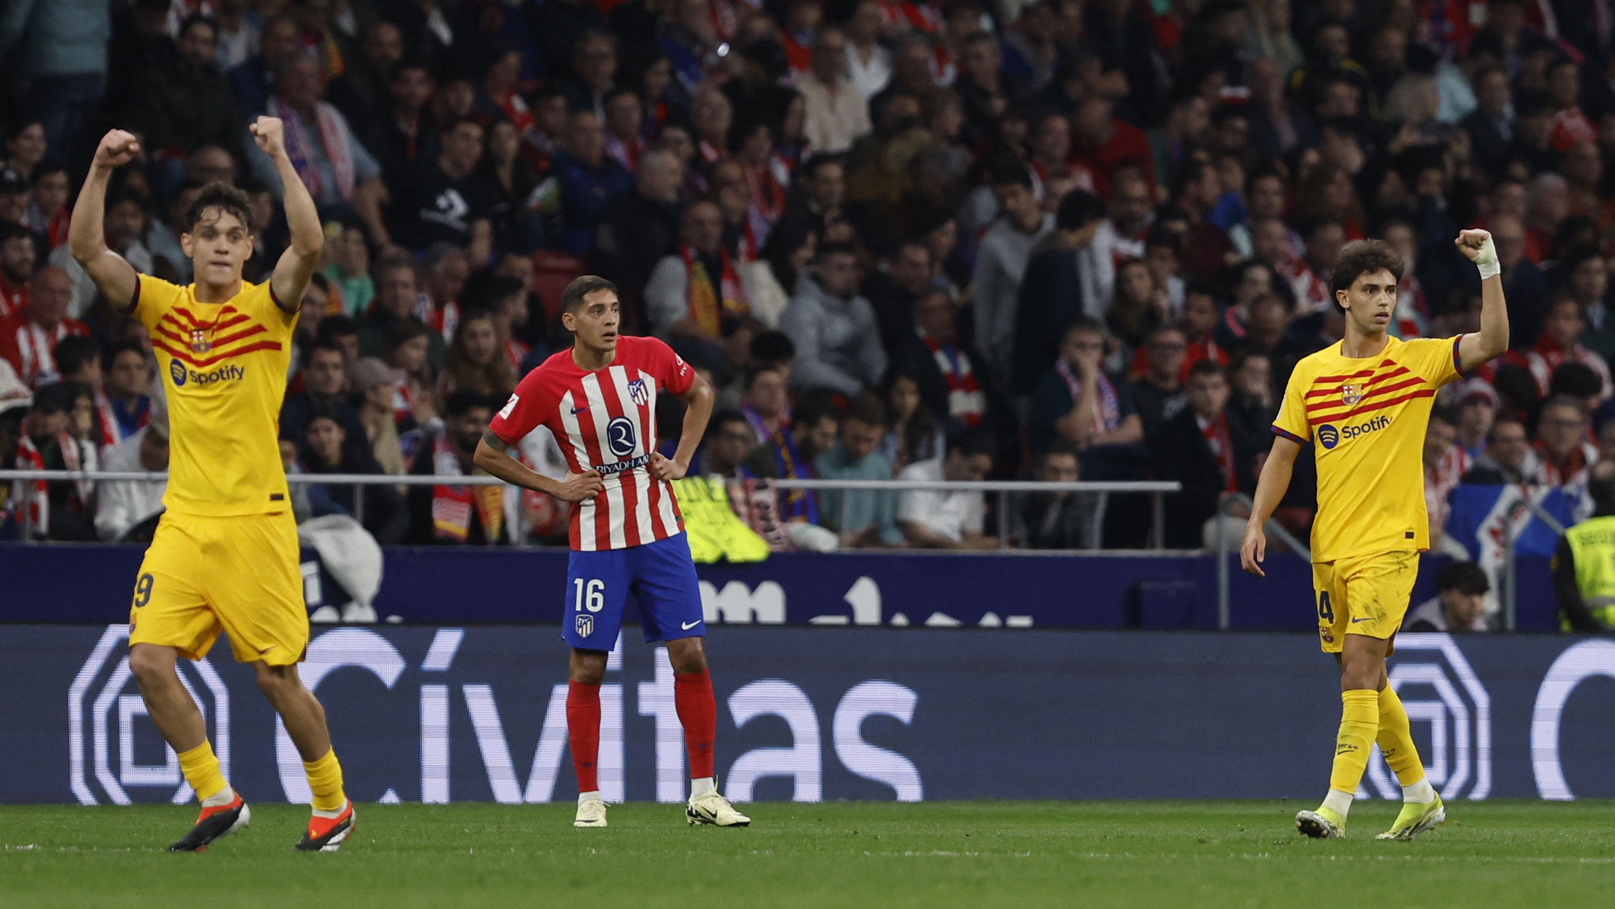
{"label": "seated spectator wearing scarf, just above the long railing's right end", "polygon": [[1032,447],[1064,439],[1079,452],[1097,446],[1135,446],[1143,441],[1127,386],[1103,370],[1105,329],[1080,316],[1059,342],[1059,360],[1032,394]]}

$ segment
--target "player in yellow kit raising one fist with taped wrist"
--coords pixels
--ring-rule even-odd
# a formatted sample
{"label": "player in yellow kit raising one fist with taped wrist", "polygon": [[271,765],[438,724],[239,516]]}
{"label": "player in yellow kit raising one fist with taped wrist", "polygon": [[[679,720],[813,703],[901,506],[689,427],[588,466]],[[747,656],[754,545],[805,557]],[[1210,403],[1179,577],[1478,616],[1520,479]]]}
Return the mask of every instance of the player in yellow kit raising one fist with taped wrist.
{"label": "player in yellow kit raising one fist with taped wrist", "polygon": [[1418,554],[1429,547],[1421,452],[1436,389],[1508,349],[1492,237],[1463,231],[1455,242],[1481,271],[1481,331],[1444,339],[1386,334],[1402,279],[1402,257],[1389,244],[1358,241],[1340,252],[1334,299],[1345,310],[1345,337],[1295,365],[1245,525],[1240,563],[1261,575],[1263,526],[1290,484],[1302,444],[1316,442],[1313,586],[1318,636],[1340,664],[1342,712],[1329,794],[1318,811],[1295,815],[1307,836],[1345,836],[1345,814],[1376,741],[1403,798],[1395,823],[1379,838],[1412,840],[1447,817],[1424,778],[1386,657],[1408,609]]}

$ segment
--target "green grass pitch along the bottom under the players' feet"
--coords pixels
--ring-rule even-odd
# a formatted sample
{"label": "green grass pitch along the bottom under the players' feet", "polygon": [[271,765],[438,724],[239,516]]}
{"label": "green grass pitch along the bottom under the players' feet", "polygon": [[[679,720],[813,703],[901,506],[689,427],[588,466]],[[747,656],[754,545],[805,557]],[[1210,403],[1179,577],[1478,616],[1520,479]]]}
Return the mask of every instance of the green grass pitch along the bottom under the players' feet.
{"label": "green grass pitch along the bottom under the players' feet", "polygon": [[749,830],[682,806],[359,806],[336,856],[297,854],[307,809],[168,854],[194,807],[0,809],[0,906],[1610,906],[1610,802],[1455,802],[1413,843],[1305,840],[1297,802],[754,804]]}

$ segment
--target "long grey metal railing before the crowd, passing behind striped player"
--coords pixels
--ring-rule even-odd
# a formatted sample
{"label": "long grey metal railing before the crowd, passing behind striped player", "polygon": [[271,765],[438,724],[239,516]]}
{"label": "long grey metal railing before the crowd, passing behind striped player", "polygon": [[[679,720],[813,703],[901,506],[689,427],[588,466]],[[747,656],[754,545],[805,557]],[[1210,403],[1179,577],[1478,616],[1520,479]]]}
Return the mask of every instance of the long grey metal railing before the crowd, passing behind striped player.
{"label": "long grey metal railing before the crowd, passing behind striped player", "polygon": [[[0,470],[0,483],[3,481],[94,481],[94,483],[155,483],[168,480],[166,473],[153,471],[97,471],[97,470]],[[473,476],[454,476],[443,478],[434,475],[389,475],[389,473],[287,473],[286,483],[291,486],[313,486],[313,484],[329,484],[329,486],[352,486],[354,488],[354,518],[363,523],[365,520],[365,497],[362,494],[362,486],[439,486],[444,480],[452,480],[457,486],[499,486],[504,480],[488,475]],[[1003,549],[1009,546],[1009,496],[1021,492],[1095,492],[1098,494],[1098,507],[1093,515],[1093,539],[1098,539],[1098,530],[1103,526],[1105,512],[1110,504],[1111,492],[1135,492],[1150,496],[1151,510],[1151,526],[1150,526],[1150,547],[1161,549],[1164,546],[1166,533],[1166,501],[1168,492],[1177,492],[1182,484],[1177,481],[1076,481],[1076,483],[1050,483],[1040,480],[770,480],[770,483],[778,489],[824,489],[824,491],[914,491],[914,492],[993,492],[998,496],[998,544]],[[29,510],[23,509],[23,538],[29,538]],[[517,509],[517,531],[518,541],[526,538],[525,515],[522,509]]]}

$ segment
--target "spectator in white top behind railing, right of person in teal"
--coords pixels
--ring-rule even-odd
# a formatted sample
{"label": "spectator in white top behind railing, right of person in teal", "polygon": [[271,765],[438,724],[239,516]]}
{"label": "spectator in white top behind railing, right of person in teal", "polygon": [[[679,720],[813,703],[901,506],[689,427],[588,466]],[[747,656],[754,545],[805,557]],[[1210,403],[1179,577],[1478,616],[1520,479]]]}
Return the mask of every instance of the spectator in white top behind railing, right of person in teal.
{"label": "spectator in white top behind railing, right of person in teal", "polygon": [[[966,431],[948,439],[942,460],[922,460],[903,468],[904,481],[982,481],[993,471],[993,442],[985,433]],[[909,489],[898,496],[896,520],[909,546],[919,549],[998,549],[985,533],[987,499],[982,492]],[[1003,517],[1000,517],[1003,520]]]}

